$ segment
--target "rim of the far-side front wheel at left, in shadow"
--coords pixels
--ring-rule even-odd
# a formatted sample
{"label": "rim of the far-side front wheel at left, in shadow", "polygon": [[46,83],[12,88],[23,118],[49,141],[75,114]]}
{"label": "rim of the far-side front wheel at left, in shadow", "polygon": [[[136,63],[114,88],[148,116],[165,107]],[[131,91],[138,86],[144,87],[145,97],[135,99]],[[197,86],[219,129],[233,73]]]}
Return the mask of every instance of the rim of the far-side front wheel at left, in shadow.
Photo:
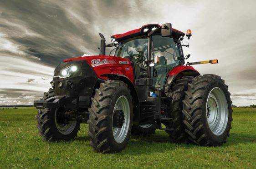
{"label": "rim of the far-side front wheel at left, in shadow", "polygon": [[56,112],[55,112],[55,125],[58,131],[64,135],[72,133],[72,131],[75,129],[77,125],[77,121],[68,121],[68,124],[60,123],[57,120],[57,113],[58,113],[58,109],[56,109]]}

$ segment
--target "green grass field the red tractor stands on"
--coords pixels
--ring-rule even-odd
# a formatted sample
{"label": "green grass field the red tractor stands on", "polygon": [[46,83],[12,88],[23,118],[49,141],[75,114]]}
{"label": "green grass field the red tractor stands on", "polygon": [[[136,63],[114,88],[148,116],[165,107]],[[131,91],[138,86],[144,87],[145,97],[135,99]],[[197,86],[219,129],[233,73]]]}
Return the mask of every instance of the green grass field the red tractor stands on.
{"label": "green grass field the red tractor stands on", "polygon": [[0,168],[256,168],[256,109],[233,112],[230,138],[220,147],[174,144],[157,130],[132,137],[118,154],[97,154],[82,124],[75,140],[47,143],[36,129],[36,109],[0,109]]}

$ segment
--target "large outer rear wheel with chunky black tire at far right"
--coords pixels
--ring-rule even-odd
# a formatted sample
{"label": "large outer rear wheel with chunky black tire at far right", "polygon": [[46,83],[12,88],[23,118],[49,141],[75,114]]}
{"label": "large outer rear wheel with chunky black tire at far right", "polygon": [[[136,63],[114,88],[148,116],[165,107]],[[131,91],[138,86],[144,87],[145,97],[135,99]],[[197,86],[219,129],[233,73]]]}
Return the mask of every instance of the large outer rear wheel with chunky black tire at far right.
{"label": "large outer rear wheel with chunky black tire at far right", "polygon": [[[228,86],[224,83],[224,80],[220,79],[220,76],[217,75],[200,75],[189,84],[183,101],[184,107],[182,112],[184,114],[183,122],[186,126],[185,131],[188,134],[188,138],[193,143],[203,146],[217,146],[226,142],[231,129],[232,120],[232,102],[227,88]],[[225,117],[223,119],[226,120],[225,123],[220,122],[220,124],[224,124],[224,127],[219,125],[220,128],[215,127],[214,129],[210,129],[210,122],[208,122],[209,119],[207,118],[210,117],[209,112],[211,108],[208,107],[207,100],[210,98],[212,91],[215,90],[220,91],[220,93],[216,94],[215,105],[219,106],[217,106],[218,110],[215,111],[217,112],[216,119],[219,118],[219,120],[221,120],[222,117]],[[219,103],[220,98],[224,99]],[[226,111],[222,111],[224,108]],[[217,120],[215,120],[215,122],[216,121]],[[219,133],[217,133],[217,131],[219,131]],[[214,132],[216,132],[216,134]]]}

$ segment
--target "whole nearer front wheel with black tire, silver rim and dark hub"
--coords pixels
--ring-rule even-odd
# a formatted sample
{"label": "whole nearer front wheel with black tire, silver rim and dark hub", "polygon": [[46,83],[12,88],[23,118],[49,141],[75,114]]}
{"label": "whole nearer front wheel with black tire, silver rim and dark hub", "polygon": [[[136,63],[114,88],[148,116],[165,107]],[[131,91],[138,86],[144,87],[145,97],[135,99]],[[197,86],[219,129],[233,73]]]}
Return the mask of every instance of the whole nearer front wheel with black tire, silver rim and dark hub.
{"label": "whole nearer front wheel with black tire, silver rim and dark hub", "polygon": [[88,136],[96,152],[114,153],[123,150],[132,129],[133,104],[127,84],[107,80],[96,89],[92,98]]}

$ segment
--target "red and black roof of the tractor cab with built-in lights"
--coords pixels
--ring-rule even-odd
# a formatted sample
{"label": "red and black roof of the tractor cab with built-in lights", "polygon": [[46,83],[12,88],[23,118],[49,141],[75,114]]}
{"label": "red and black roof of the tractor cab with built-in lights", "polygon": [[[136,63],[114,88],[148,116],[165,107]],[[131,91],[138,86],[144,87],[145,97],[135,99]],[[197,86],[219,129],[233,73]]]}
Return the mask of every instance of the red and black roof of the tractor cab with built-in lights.
{"label": "red and black roof of the tractor cab with built-in lights", "polygon": [[[143,30],[145,28],[148,28],[149,30],[151,30],[152,28],[158,28],[160,27],[160,25],[158,24],[147,24],[147,25],[143,25],[141,28],[135,29],[135,30],[130,30],[128,32],[125,32],[123,34],[116,34],[116,35],[112,35],[111,38],[115,38],[117,41],[122,41],[128,38],[133,38],[136,36],[140,36],[140,35],[146,35],[148,32],[143,32]],[[176,30],[174,28],[172,28],[172,35],[174,38],[179,39],[180,36],[184,36],[185,34],[179,30]]]}

